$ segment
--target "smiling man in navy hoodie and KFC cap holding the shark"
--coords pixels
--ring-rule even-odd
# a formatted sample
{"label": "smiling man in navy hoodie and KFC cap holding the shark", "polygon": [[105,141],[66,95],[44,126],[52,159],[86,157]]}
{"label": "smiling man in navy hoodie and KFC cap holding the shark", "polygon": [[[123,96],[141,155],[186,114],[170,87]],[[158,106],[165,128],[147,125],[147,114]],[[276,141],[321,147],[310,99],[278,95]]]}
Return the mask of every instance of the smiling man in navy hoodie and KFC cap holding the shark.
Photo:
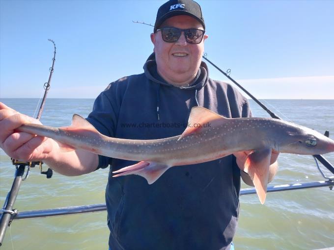
{"label": "smiling man in navy hoodie and KFC cap holding the shark", "polygon": [[[249,117],[249,103],[229,84],[214,81],[201,62],[205,23],[192,0],[170,0],[157,14],[144,73],[112,82],[95,100],[87,120],[117,138],[179,135],[193,106],[225,117]],[[175,167],[151,185],[138,175],[112,178],[134,162],[83,150],[61,152],[52,139],[14,129],[36,120],[0,104],[0,146],[11,157],[43,160],[63,175],[83,175],[111,165],[106,188],[111,250],[232,249],[239,215],[240,175],[248,152]],[[273,154],[272,163],[277,154]],[[271,167],[271,177],[275,166]]]}

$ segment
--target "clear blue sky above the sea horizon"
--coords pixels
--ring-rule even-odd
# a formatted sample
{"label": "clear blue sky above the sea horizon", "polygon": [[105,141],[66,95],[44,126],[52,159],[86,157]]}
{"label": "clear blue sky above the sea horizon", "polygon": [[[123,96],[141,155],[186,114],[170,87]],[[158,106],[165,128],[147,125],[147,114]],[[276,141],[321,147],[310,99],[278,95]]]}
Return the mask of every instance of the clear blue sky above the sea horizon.
{"label": "clear blue sky above the sea horizon", "polygon": [[[0,0],[0,98],[95,98],[139,74],[161,0]],[[198,0],[208,58],[259,98],[334,99],[334,1]],[[214,79],[226,80],[209,66]]]}

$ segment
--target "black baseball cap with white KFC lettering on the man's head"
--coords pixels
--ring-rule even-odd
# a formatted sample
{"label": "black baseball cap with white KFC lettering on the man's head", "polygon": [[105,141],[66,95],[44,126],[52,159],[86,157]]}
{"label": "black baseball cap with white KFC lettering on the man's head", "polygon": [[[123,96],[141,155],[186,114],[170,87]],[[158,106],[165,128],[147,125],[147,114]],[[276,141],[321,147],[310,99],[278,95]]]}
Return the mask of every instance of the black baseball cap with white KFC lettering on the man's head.
{"label": "black baseball cap with white KFC lettering on the man's head", "polygon": [[166,19],[179,15],[187,15],[195,18],[205,29],[202,10],[197,2],[193,0],[169,0],[158,9],[154,32],[157,31]]}

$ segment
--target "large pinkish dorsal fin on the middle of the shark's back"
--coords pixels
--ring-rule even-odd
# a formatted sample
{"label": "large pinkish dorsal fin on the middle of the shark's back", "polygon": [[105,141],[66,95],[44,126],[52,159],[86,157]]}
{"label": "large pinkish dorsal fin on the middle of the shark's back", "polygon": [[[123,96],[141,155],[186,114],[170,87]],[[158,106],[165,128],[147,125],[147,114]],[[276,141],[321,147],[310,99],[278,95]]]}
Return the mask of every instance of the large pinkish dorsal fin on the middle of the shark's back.
{"label": "large pinkish dorsal fin on the middle of the shark's back", "polygon": [[212,125],[222,124],[227,118],[203,107],[193,107],[190,111],[188,126],[178,140],[194,133],[199,133]]}

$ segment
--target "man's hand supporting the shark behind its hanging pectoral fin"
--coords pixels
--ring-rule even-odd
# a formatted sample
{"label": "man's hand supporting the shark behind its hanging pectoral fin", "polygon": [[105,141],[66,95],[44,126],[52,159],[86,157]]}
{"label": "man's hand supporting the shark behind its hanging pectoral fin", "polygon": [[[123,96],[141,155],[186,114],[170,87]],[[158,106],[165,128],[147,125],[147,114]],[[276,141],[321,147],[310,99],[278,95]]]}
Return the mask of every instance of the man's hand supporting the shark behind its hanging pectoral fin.
{"label": "man's hand supporting the shark behind its hanging pectoral fin", "polygon": [[[237,164],[238,167],[244,171],[245,169],[245,162],[247,159],[247,156],[252,152],[252,150],[249,151],[240,151],[240,152],[235,152],[234,156],[237,158]],[[270,158],[270,167],[269,167],[269,178],[268,178],[268,183],[271,182],[278,170],[278,163],[277,163],[277,158],[278,158],[278,151],[273,150],[272,155]],[[249,185],[249,186],[254,186],[253,181],[251,180],[251,177],[247,175],[245,172],[241,172],[241,177],[243,181]]]}

